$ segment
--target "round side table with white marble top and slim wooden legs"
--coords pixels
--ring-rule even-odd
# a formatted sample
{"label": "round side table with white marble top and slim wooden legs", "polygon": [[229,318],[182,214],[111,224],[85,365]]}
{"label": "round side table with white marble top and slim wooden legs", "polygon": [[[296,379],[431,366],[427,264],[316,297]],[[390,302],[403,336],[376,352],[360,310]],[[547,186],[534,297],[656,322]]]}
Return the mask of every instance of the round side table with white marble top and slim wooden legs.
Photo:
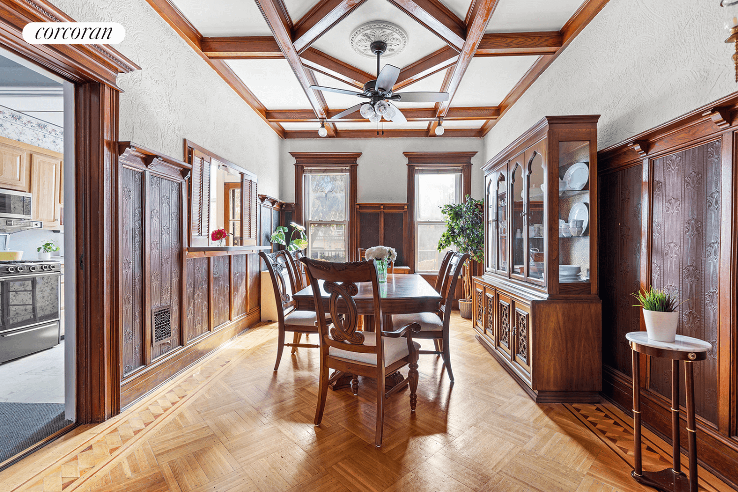
{"label": "round side table with white marble top and slim wooden legs", "polygon": [[[632,331],[625,335],[630,342],[633,357],[633,454],[634,470],[631,476],[636,482],[663,492],[697,492],[697,429],[694,426],[694,361],[707,358],[712,345],[691,336],[677,335],[674,342],[656,342],[645,331]],[[672,443],[674,466],[661,471],[643,471],[641,464],[641,366],[640,354],[672,359]],[[679,443],[679,361],[684,361],[684,387],[686,389],[687,431],[689,437],[689,479],[681,470]]]}

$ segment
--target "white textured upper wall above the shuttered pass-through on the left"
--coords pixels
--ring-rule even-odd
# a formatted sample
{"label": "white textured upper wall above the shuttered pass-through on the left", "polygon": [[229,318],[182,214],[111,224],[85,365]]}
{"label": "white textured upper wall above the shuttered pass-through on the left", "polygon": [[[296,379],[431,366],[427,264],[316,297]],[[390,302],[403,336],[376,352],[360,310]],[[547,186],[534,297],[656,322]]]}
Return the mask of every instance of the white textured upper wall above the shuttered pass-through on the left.
{"label": "white textured upper wall above the shuttered pass-through on the left", "polygon": [[256,173],[279,193],[280,138],[145,0],[53,0],[77,21],[115,21],[114,46],[141,70],[118,76],[120,139],[182,159],[182,139]]}

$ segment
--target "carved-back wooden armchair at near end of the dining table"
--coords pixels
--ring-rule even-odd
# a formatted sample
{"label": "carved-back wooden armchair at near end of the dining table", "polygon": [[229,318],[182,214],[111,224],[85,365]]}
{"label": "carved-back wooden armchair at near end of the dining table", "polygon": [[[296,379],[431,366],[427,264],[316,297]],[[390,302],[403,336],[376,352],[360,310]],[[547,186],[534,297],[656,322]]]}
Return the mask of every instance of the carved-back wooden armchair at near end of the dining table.
{"label": "carved-back wooden armchair at near end of the dining table", "polygon": [[[413,332],[420,330],[417,323],[409,323],[399,330],[382,330],[382,303],[379,298],[376,268],[373,262],[331,263],[302,258],[312,285],[323,280],[323,289],[330,294],[323,299],[320,289],[314,288],[315,311],[320,328],[320,387],[315,411],[315,425],[320,426],[328,394],[329,370],[339,370],[356,376],[376,379],[376,434],[374,444],[382,446],[384,426],[384,399],[410,384],[410,411],[415,412],[418,389],[418,349]],[[354,297],[359,292],[356,283],[371,283],[373,294],[374,331],[356,330],[359,318]],[[323,302],[327,300],[329,313]],[[339,311],[339,309],[341,311]],[[340,316],[340,314],[344,316]],[[334,319],[328,330],[325,319]],[[407,378],[385,392],[384,378],[404,366],[409,367]]]}

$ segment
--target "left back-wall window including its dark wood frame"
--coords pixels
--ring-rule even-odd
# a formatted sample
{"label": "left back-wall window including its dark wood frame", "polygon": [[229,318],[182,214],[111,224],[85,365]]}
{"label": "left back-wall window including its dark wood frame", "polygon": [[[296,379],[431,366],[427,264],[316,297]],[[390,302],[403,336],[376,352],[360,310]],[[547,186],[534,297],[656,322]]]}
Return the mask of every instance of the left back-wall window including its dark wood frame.
{"label": "left back-wall window including its dark wood frame", "polygon": [[294,218],[305,226],[307,255],[328,261],[356,258],[358,152],[290,152],[294,157]]}

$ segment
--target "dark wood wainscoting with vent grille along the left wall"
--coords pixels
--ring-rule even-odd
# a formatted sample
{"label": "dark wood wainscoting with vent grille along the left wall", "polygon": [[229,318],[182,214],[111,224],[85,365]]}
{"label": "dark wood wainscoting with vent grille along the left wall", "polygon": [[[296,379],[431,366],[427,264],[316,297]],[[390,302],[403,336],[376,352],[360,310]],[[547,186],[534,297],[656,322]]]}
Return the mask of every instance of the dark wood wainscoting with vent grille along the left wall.
{"label": "dark wood wainscoting with vent grille along the left wall", "polygon": [[258,246],[187,252],[190,164],[131,142],[119,153],[125,407],[259,322],[261,266]]}

